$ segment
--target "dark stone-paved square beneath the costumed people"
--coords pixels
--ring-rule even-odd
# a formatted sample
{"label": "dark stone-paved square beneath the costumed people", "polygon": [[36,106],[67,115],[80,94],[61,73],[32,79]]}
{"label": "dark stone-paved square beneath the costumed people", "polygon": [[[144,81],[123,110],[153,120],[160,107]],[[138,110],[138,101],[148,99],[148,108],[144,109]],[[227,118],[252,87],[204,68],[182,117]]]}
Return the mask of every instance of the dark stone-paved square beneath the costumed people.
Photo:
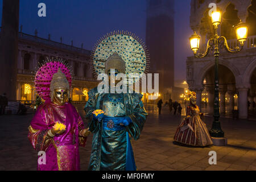
{"label": "dark stone-paved square beneath the costumed people", "polygon": [[[77,106],[81,114],[82,106]],[[173,143],[184,116],[172,115],[163,106],[147,105],[149,115],[141,138],[132,141],[138,170],[256,170],[256,122],[221,118],[228,146],[185,147]],[[0,170],[36,170],[37,154],[27,139],[32,114],[0,115]],[[208,129],[212,117],[205,117]],[[92,135],[80,147],[81,170],[87,170]],[[217,164],[208,163],[209,151],[217,152]]]}

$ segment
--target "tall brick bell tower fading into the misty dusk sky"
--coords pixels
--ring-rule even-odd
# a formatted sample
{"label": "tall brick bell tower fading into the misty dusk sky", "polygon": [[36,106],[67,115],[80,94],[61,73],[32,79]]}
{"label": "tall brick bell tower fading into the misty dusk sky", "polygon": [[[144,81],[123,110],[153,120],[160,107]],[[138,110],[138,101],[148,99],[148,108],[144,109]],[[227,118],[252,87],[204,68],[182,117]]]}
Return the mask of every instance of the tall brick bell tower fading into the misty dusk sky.
{"label": "tall brick bell tower fading into the misty dusk sky", "polygon": [[159,92],[174,86],[174,0],[147,0],[146,45]]}

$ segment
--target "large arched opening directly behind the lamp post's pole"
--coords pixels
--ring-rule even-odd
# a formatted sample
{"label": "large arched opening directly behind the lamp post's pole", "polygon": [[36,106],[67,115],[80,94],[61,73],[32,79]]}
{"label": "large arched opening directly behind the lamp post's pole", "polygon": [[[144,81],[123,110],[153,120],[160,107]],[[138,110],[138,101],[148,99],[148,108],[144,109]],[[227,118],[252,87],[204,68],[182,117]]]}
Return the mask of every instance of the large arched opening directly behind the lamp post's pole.
{"label": "large arched opening directly behind the lamp post's pole", "polygon": [[[232,114],[235,109],[234,94],[236,94],[236,79],[230,69],[218,65],[220,114]],[[214,105],[214,66],[210,67],[203,77],[204,90],[201,95],[201,110],[213,114]]]}

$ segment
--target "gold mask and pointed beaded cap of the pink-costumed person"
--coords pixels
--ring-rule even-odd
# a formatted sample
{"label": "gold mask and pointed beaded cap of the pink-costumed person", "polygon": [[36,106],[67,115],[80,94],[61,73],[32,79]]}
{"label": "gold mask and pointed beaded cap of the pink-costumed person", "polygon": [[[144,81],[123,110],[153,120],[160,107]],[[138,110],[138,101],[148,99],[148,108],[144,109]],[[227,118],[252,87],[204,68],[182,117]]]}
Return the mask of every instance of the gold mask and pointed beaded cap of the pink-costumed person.
{"label": "gold mask and pointed beaded cap of the pink-costumed person", "polygon": [[52,77],[51,85],[51,101],[57,105],[64,105],[69,98],[69,82],[64,73],[59,71]]}

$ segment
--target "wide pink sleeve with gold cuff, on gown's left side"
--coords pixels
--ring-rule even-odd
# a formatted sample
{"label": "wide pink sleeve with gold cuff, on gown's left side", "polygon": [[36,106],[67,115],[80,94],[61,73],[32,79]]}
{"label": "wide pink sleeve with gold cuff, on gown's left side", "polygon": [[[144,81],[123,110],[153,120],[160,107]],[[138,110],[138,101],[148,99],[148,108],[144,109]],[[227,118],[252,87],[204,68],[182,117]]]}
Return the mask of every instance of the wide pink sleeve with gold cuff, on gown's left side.
{"label": "wide pink sleeve with gold cuff, on gown's left side", "polygon": [[39,107],[28,127],[28,139],[36,151],[46,151],[52,140],[52,138],[47,138],[49,129],[42,112],[42,107]]}

